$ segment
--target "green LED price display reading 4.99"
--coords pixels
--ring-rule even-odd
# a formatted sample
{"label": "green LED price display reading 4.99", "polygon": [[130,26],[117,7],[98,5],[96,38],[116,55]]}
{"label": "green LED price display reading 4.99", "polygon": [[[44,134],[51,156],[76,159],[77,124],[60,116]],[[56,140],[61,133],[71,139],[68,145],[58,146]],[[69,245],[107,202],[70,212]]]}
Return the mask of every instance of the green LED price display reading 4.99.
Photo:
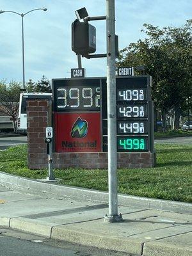
{"label": "green LED price display reading 4.99", "polygon": [[117,150],[124,151],[147,151],[147,137],[117,137]]}

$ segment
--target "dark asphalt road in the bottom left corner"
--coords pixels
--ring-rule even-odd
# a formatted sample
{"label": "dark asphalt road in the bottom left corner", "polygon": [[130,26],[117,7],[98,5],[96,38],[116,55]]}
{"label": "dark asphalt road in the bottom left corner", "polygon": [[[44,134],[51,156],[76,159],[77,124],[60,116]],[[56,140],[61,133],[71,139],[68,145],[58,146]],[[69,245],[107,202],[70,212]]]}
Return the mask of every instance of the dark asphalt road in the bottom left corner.
{"label": "dark asphalt road in the bottom left corner", "polygon": [[127,253],[57,241],[0,227],[2,256],[129,256]]}

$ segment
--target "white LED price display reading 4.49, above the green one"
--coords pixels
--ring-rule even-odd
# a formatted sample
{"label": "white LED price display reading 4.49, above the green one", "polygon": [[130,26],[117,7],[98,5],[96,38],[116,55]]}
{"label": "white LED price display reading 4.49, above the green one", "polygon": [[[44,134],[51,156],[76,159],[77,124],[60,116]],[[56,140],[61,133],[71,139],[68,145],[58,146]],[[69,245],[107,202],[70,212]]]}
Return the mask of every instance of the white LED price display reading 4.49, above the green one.
{"label": "white LED price display reading 4.49, above the green one", "polygon": [[117,134],[146,134],[147,133],[147,121],[143,120],[122,120],[117,121]]}

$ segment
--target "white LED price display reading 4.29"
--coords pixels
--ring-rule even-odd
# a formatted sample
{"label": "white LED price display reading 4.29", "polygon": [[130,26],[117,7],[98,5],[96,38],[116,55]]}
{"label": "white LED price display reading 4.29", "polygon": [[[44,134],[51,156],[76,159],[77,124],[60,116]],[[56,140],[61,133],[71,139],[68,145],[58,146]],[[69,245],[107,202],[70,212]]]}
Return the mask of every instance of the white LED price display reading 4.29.
{"label": "white LED price display reading 4.29", "polygon": [[147,105],[135,105],[118,104],[117,106],[117,118],[120,117],[147,117]]}

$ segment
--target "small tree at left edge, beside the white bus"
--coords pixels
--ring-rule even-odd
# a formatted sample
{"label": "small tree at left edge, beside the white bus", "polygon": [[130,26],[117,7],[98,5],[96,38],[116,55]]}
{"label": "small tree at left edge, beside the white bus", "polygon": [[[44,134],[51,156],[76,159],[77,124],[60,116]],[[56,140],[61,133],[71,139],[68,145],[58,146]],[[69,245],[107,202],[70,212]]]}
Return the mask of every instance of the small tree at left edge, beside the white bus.
{"label": "small tree at left edge, beside the white bus", "polygon": [[1,113],[12,116],[14,132],[17,132],[17,115],[19,111],[19,96],[21,84],[15,81],[6,84],[6,81],[0,82],[0,105]]}

